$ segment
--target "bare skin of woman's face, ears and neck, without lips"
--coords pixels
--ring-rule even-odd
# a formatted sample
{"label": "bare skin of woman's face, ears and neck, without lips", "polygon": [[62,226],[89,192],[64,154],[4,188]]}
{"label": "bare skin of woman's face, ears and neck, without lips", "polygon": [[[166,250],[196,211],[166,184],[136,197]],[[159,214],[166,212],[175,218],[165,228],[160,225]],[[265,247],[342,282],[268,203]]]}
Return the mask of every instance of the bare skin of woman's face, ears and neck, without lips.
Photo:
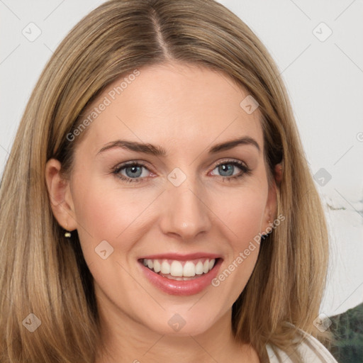
{"label": "bare skin of woman's face, ears and neck, without lips", "polygon": [[[89,110],[118,84],[111,84]],[[230,323],[232,305],[255,267],[258,245],[218,287],[192,296],[160,291],[137,261],[162,252],[213,252],[223,257],[222,272],[275,218],[276,184],[267,182],[259,111],[249,115],[240,107],[247,95],[210,69],[175,62],[145,67],[88,126],[69,179],[60,177],[60,162],[48,161],[52,211],[63,228],[78,230],[94,277],[108,351],[99,350],[96,363],[168,362],[170,357],[180,363],[259,362],[252,347],[233,339]],[[255,139],[261,150],[238,145],[208,155],[212,145],[237,136]],[[98,154],[118,139],[159,145],[167,156],[120,147]],[[143,181],[125,182],[111,172],[123,162],[141,160],[147,166],[139,177]],[[250,174],[223,181],[218,164],[238,160]],[[175,167],[186,175],[180,186],[167,179]],[[243,173],[230,167],[233,176]],[[130,179],[125,169],[121,174]],[[103,240],[113,247],[107,259],[95,253]],[[178,332],[168,324],[175,313],[186,322]]]}

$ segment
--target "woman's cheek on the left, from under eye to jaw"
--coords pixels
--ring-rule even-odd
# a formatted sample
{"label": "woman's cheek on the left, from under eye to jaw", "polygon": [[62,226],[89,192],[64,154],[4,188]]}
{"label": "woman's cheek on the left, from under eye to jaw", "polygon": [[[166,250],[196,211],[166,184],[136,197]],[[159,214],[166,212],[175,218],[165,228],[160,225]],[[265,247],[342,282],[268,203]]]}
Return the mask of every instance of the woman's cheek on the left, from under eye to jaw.
{"label": "woman's cheek on the left, from under eye to jaw", "polygon": [[133,267],[129,263],[133,261],[133,247],[145,234],[143,227],[150,219],[145,211],[155,196],[150,191],[107,188],[95,182],[74,194],[77,231],[86,264],[108,296],[121,301],[122,291],[132,295],[135,289],[125,271]]}

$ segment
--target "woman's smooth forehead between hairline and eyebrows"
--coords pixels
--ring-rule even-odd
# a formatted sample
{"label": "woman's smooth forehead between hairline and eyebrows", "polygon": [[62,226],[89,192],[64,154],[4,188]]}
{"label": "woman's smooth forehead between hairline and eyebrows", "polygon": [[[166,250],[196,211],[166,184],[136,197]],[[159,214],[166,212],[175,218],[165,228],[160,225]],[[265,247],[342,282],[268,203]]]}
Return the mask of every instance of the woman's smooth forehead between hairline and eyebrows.
{"label": "woman's smooth forehead between hairline and eyebrows", "polygon": [[205,67],[141,68],[110,84],[86,109],[84,118],[92,113],[94,118],[85,140],[93,149],[117,138],[178,141],[175,147],[190,149],[248,135],[262,146],[258,109],[249,114],[240,106],[248,95],[227,75]]}

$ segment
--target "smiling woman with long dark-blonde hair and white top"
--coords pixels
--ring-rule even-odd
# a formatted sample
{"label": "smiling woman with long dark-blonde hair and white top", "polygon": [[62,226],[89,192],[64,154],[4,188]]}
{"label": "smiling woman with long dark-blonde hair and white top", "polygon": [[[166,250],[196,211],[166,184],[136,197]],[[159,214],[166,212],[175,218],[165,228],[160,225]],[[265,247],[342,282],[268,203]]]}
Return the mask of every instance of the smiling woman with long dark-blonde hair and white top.
{"label": "smiling woman with long dark-blonde hair and white top", "polygon": [[222,5],[86,16],[0,193],[1,363],[335,362],[314,325],[327,230],[286,91]]}

